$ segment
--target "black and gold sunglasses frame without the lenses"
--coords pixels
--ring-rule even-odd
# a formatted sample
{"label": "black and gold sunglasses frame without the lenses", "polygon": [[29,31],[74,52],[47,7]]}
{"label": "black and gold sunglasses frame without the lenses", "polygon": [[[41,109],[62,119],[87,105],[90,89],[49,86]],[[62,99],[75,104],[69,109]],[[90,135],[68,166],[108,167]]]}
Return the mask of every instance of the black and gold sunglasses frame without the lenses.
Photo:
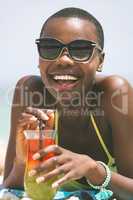
{"label": "black and gold sunglasses frame without the lenses", "polygon": [[[47,59],[47,58],[43,58],[42,56],[40,56],[40,49],[39,49],[40,46],[39,46],[39,44],[40,44],[40,42],[43,41],[44,39],[54,39],[54,40],[58,41],[59,43],[61,43],[61,48],[62,48],[62,49],[61,49],[59,55],[58,55],[56,58],[54,58],[54,59]],[[72,56],[71,53],[69,52],[69,48],[68,48],[69,44],[72,43],[73,41],[87,41],[87,42],[90,42],[90,44],[92,45],[92,48],[93,48],[93,50],[92,50],[92,55],[91,55],[90,57],[86,58],[85,60],[78,60],[78,59],[73,58],[73,56]],[[88,62],[88,61],[90,61],[90,60],[92,59],[92,57],[94,56],[95,49],[97,49],[98,51],[100,51],[101,54],[103,53],[102,48],[101,48],[96,42],[94,42],[94,41],[85,40],[85,39],[77,39],[77,40],[73,40],[73,41],[71,41],[71,42],[69,42],[69,43],[67,43],[67,44],[64,44],[62,41],[57,40],[56,38],[44,37],[44,38],[36,39],[36,40],[35,40],[35,43],[37,44],[37,47],[38,47],[39,57],[40,57],[42,60],[46,60],[46,61],[56,61],[56,60],[58,60],[58,59],[61,57],[62,52],[64,51],[64,49],[67,50],[67,53],[68,53],[69,57],[70,57],[74,62],[78,62],[78,63],[83,63],[83,62]]]}

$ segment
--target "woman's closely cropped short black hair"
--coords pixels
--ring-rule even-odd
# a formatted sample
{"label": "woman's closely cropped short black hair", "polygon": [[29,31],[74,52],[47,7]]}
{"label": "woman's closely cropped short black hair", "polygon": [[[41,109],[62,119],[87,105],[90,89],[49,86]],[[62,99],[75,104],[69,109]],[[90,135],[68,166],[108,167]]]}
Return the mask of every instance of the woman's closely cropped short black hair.
{"label": "woman's closely cropped short black hair", "polygon": [[40,36],[43,34],[44,27],[48,23],[48,21],[53,18],[58,18],[58,17],[77,17],[77,18],[89,20],[89,22],[92,22],[96,27],[98,43],[101,46],[101,48],[103,49],[104,33],[103,33],[103,28],[102,28],[100,22],[92,14],[90,14],[89,12],[87,12],[83,9],[80,9],[80,8],[74,8],[74,7],[64,8],[62,10],[59,10],[55,14],[51,15],[43,24]]}

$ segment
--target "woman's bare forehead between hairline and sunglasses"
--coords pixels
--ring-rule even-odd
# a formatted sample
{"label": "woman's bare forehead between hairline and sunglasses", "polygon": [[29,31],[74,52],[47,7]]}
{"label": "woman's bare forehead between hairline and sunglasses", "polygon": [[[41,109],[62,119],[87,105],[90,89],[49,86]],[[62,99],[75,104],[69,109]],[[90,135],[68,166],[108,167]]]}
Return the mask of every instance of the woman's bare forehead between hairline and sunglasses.
{"label": "woman's bare forehead between hairline and sunglasses", "polygon": [[54,37],[63,42],[87,39],[97,42],[95,25],[77,17],[58,17],[50,19],[44,27],[42,37]]}

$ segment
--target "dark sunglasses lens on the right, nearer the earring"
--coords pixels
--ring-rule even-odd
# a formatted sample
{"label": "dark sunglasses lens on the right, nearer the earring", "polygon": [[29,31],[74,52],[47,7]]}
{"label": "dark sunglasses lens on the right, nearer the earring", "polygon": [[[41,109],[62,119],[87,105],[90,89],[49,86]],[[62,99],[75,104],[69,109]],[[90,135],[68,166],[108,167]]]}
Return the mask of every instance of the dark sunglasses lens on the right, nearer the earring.
{"label": "dark sunglasses lens on the right, nearer the earring", "polygon": [[75,40],[69,44],[69,52],[76,61],[87,61],[93,54],[94,46],[90,41]]}

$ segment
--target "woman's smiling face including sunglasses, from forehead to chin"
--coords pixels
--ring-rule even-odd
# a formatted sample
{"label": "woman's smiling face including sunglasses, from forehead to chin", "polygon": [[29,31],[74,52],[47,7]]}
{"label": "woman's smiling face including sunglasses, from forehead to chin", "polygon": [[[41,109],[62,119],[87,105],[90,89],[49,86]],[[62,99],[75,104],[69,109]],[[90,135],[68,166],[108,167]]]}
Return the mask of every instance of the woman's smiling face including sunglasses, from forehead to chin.
{"label": "woman's smiling face including sunglasses, from forehead to chin", "polygon": [[[84,31],[79,33],[79,27]],[[73,16],[58,17],[58,20],[52,17],[42,30],[41,39],[37,40],[42,80],[54,97],[66,102],[73,95],[75,97],[75,92],[81,92],[83,87],[85,90],[91,87],[98,62],[102,63],[104,55],[94,34],[96,28],[89,20]],[[99,51],[101,53],[94,62],[94,53]],[[91,63],[90,68],[86,67],[88,63]]]}

